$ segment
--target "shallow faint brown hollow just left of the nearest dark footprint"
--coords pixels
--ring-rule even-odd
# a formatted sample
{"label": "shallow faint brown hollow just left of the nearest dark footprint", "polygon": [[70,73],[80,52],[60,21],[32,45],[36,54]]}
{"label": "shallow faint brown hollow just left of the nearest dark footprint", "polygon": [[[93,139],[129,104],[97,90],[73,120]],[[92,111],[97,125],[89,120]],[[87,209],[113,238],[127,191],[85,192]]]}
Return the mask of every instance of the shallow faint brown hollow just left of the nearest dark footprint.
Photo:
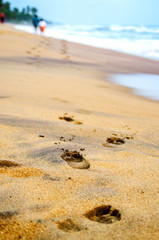
{"label": "shallow faint brown hollow just left of the nearest dark footprint", "polygon": [[57,226],[64,232],[79,232],[81,230],[84,230],[82,226],[77,225],[74,221],[72,221],[69,218],[63,222],[57,222]]}

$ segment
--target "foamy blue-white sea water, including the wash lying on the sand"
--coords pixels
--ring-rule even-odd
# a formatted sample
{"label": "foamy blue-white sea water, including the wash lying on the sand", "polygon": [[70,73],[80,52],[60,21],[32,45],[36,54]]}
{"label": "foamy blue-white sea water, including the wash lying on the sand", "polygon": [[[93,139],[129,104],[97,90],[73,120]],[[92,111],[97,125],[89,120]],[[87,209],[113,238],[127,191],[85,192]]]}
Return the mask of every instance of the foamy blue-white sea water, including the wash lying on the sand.
{"label": "foamy blue-white sea water, including the wash lying on the sand", "polygon": [[[16,28],[33,33],[32,26]],[[52,24],[47,26],[45,36],[159,60],[159,26]],[[134,88],[135,93],[159,100],[158,75],[116,75],[114,79]]]}

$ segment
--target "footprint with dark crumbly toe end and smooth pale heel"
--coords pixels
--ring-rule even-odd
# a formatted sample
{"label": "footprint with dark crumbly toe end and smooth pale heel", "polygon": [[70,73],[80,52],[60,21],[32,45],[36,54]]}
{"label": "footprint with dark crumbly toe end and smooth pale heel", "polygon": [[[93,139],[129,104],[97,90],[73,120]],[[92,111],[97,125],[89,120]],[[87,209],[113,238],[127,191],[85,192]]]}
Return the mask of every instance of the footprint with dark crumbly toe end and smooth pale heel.
{"label": "footprint with dark crumbly toe end and smooth pale heel", "polygon": [[68,163],[72,168],[88,169],[90,168],[89,162],[77,151],[66,150],[61,158]]}

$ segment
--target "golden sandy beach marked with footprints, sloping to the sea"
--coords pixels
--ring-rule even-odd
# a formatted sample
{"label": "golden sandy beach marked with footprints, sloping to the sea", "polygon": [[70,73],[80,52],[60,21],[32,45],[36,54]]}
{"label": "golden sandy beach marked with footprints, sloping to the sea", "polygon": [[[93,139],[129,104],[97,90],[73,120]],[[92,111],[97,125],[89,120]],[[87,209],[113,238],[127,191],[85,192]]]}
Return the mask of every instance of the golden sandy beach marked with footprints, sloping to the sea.
{"label": "golden sandy beach marked with footprints, sloping to the sea", "polygon": [[[56,36],[55,36],[56,37]],[[0,240],[159,239],[159,61],[0,26]]]}

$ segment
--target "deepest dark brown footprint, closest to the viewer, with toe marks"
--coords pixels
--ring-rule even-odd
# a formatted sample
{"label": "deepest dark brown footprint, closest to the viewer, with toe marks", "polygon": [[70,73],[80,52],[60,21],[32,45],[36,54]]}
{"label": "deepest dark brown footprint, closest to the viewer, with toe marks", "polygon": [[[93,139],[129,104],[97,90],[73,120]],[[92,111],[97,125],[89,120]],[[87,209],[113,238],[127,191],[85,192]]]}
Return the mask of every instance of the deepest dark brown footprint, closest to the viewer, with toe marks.
{"label": "deepest dark brown footprint, closest to the viewer, with toe marks", "polygon": [[84,215],[91,221],[111,224],[115,221],[121,220],[119,210],[112,208],[111,205],[102,205],[92,209]]}

